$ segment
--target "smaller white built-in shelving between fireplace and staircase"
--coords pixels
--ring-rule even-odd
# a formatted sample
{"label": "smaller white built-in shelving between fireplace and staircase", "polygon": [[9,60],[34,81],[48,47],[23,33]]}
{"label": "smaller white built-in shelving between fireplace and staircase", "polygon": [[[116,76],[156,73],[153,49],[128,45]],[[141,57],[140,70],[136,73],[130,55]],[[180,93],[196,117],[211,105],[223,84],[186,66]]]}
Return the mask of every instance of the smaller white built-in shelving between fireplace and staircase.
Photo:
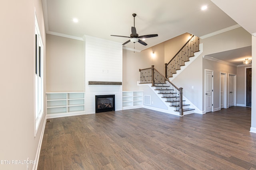
{"label": "smaller white built-in shelving between fireplace and staircase", "polygon": [[123,109],[143,106],[143,91],[123,91]]}

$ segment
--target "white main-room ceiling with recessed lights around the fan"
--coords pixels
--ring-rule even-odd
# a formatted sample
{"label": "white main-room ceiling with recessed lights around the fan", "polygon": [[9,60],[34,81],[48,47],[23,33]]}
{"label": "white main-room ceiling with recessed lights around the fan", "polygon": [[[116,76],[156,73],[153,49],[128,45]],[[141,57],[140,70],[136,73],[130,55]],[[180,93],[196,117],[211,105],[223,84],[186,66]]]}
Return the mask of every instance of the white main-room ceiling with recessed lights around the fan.
{"label": "white main-room ceiling with recessed lights around the fan", "polygon": [[[43,0],[46,31],[50,34],[82,39],[90,35],[121,44],[129,40],[136,13],[139,35],[158,34],[147,38],[147,46],[135,43],[141,51],[183,33],[206,35],[237,23],[210,0]],[[203,5],[208,9],[201,10]],[[78,23],[72,21],[78,19]],[[133,49],[133,43],[124,45]]]}

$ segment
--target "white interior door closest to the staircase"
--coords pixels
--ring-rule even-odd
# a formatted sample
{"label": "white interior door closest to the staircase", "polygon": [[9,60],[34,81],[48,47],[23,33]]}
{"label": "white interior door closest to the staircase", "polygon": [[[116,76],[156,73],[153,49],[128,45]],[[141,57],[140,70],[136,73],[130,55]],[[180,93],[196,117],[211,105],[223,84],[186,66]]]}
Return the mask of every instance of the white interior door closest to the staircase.
{"label": "white interior door closest to the staircase", "polygon": [[213,103],[212,103],[212,95],[213,95],[213,86],[212,86],[212,78],[213,78],[213,71],[212,70],[205,70],[204,74],[205,78],[205,112],[212,111]]}

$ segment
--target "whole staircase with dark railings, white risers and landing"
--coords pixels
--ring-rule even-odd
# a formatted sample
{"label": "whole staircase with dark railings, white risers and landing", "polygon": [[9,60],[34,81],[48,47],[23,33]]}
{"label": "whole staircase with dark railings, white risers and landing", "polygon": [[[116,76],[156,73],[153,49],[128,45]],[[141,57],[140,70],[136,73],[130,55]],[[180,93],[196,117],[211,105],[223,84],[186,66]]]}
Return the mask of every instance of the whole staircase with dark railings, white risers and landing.
{"label": "whole staircase with dark railings, white risers and landing", "polygon": [[180,70],[180,66],[184,66],[185,62],[190,61],[189,58],[194,57],[194,53],[198,51],[199,37],[192,35],[172,60],[165,64],[165,75],[156,70],[154,65],[151,68],[139,70],[140,84],[151,83],[158,96],[165,100],[165,104],[174,108],[174,111],[179,112],[181,116],[194,113],[195,109],[190,108],[190,104],[186,104],[186,101],[183,100],[183,88],[176,87],[169,78],[176,74],[176,70]]}

